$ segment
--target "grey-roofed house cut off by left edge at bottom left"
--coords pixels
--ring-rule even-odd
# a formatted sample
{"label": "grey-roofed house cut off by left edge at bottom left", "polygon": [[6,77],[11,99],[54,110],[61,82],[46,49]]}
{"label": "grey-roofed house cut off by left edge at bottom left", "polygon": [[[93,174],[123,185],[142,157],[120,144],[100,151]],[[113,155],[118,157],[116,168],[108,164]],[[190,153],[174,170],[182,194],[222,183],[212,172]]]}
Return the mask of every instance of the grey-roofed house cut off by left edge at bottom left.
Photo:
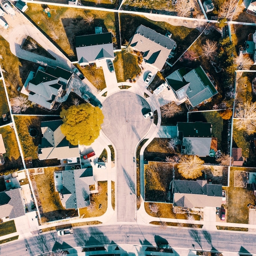
{"label": "grey-roofed house cut off by left edge at bottom left", "polygon": [[25,215],[20,188],[7,190],[6,176],[0,176],[0,219],[14,219]]}

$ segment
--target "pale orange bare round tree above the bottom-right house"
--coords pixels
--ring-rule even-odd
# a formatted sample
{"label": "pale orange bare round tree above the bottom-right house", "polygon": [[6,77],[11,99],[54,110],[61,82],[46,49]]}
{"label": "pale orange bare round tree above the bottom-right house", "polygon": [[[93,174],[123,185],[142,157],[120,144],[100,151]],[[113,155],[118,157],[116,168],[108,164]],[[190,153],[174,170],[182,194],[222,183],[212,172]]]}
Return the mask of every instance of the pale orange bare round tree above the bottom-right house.
{"label": "pale orange bare round tree above the bottom-right house", "polygon": [[202,175],[204,161],[198,156],[183,155],[177,165],[178,172],[185,179],[196,179]]}

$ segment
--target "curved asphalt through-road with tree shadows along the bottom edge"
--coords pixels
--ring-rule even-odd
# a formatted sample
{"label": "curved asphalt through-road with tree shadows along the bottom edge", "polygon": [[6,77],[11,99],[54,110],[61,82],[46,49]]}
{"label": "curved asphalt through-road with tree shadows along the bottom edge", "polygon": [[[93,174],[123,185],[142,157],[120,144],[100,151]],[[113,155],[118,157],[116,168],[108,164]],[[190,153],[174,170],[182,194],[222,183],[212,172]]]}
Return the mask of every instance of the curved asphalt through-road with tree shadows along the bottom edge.
{"label": "curved asphalt through-road with tree shadows along the bottom edge", "polygon": [[[207,232],[184,228],[162,228],[159,226],[112,225],[99,227],[75,228],[74,234],[59,237],[56,232],[34,236],[28,240],[20,240],[0,247],[1,256],[34,256],[56,248],[76,248],[99,246],[106,244],[156,246],[168,242],[175,248],[196,249],[218,252],[240,252],[240,254],[256,253],[255,234],[246,232]],[[193,248],[194,244],[195,248]],[[27,251],[26,251],[27,249]],[[80,248],[76,248],[80,252]],[[144,255],[138,252],[138,255]]]}

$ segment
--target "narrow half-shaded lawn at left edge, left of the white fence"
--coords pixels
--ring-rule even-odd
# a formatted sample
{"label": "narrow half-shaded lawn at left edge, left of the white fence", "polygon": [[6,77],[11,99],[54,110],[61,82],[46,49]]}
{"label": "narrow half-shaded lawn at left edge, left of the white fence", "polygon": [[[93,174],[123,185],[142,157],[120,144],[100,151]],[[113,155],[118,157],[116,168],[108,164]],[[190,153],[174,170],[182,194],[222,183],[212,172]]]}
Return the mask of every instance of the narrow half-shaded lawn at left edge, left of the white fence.
{"label": "narrow half-shaded lawn at left edge, left of the white fence", "polygon": [[13,128],[7,125],[0,128],[0,134],[3,136],[4,147],[6,153],[4,154],[4,165],[0,166],[0,174],[10,172],[10,170],[17,171],[23,168],[20,150],[16,140]]}

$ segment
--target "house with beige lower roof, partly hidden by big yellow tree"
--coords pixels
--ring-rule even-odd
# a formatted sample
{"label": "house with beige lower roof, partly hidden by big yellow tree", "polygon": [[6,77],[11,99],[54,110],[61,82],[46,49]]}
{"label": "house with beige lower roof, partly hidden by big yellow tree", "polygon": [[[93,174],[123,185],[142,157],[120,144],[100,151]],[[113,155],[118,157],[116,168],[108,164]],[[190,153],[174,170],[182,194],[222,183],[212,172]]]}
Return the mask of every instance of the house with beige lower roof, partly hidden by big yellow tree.
{"label": "house with beige lower roof, partly hidden by big yellow tree", "polygon": [[80,157],[78,145],[73,146],[60,130],[62,120],[41,122],[42,140],[38,146],[38,158],[65,159]]}

